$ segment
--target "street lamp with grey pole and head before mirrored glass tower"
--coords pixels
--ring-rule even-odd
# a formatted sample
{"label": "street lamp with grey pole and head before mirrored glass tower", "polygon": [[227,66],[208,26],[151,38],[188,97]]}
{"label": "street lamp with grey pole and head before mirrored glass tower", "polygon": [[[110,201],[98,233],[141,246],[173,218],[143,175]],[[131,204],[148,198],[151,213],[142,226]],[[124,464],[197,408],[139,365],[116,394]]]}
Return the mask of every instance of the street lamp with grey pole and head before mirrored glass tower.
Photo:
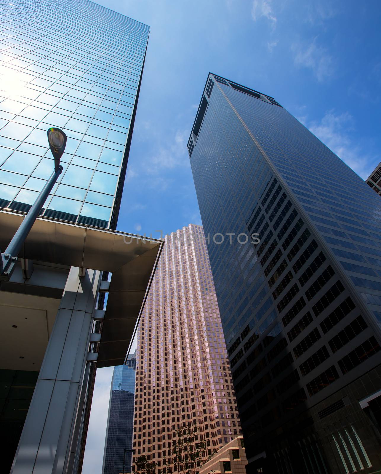
{"label": "street lamp with grey pole and head before mirrored glass tower", "polygon": [[17,256],[21,250],[21,247],[23,246],[30,229],[35,223],[39,212],[44,206],[50,191],[52,191],[55,182],[63,170],[62,166],[60,165],[60,159],[66,146],[66,135],[59,128],[52,127],[47,131],[47,137],[50,150],[54,156],[54,171],[45,183],[42,191],[40,191],[38,194],[36,201],[30,208],[25,219],[21,222],[20,227],[17,229],[16,234],[9,242],[5,252],[1,253],[0,281],[9,280],[11,277],[13,270],[15,269]]}

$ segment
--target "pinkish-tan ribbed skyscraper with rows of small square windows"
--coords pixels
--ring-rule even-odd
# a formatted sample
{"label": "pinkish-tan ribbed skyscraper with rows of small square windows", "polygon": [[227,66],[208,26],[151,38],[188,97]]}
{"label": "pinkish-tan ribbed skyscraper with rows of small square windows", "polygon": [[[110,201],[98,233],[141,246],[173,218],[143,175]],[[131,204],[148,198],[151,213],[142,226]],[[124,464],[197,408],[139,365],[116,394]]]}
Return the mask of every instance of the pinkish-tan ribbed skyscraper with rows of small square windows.
{"label": "pinkish-tan ribbed skyscraper with rows of small square windows", "polygon": [[174,472],[172,433],[197,426],[206,457],[241,433],[202,227],[165,237],[138,328],[134,456]]}

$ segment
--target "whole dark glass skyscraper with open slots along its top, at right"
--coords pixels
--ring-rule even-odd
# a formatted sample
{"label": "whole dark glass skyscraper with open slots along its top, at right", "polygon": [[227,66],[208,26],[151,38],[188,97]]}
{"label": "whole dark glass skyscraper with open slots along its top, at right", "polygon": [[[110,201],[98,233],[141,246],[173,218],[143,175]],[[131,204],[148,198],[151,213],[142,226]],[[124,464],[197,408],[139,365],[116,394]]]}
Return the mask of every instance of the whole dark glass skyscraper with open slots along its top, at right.
{"label": "whole dark glass skyscraper with open slots along its top, at right", "polygon": [[247,472],[378,471],[380,198],[272,97],[214,74],[188,149]]}

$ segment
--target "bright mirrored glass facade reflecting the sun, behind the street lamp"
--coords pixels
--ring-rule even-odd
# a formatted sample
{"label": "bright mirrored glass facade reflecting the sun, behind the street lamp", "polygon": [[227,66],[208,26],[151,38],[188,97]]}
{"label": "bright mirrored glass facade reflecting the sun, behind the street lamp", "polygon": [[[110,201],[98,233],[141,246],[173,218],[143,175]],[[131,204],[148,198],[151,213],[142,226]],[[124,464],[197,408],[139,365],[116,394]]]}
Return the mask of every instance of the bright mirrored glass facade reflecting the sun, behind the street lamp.
{"label": "bright mirrored glass facade reflecting the sun, behind the street lamp", "polygon": [[43,214],[115,228],[149,27],[87,0],[0,1],[0,206],[27,211],[68,139]]}

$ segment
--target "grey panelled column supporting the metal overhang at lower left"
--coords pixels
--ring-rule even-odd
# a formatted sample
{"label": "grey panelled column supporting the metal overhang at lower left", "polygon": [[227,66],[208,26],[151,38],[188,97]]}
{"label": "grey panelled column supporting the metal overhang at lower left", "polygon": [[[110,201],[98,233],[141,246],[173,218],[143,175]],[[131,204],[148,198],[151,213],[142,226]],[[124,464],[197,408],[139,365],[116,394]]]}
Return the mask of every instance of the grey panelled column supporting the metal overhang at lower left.
{"label": "grey panelled column supporting the metal overhang at lower left", "polygon": [[[11,474],[69,474],[100,272],[72,267]],[[82,392],[83,393],[83,392]],[[70,473],[71,474],[71,473]]]}

